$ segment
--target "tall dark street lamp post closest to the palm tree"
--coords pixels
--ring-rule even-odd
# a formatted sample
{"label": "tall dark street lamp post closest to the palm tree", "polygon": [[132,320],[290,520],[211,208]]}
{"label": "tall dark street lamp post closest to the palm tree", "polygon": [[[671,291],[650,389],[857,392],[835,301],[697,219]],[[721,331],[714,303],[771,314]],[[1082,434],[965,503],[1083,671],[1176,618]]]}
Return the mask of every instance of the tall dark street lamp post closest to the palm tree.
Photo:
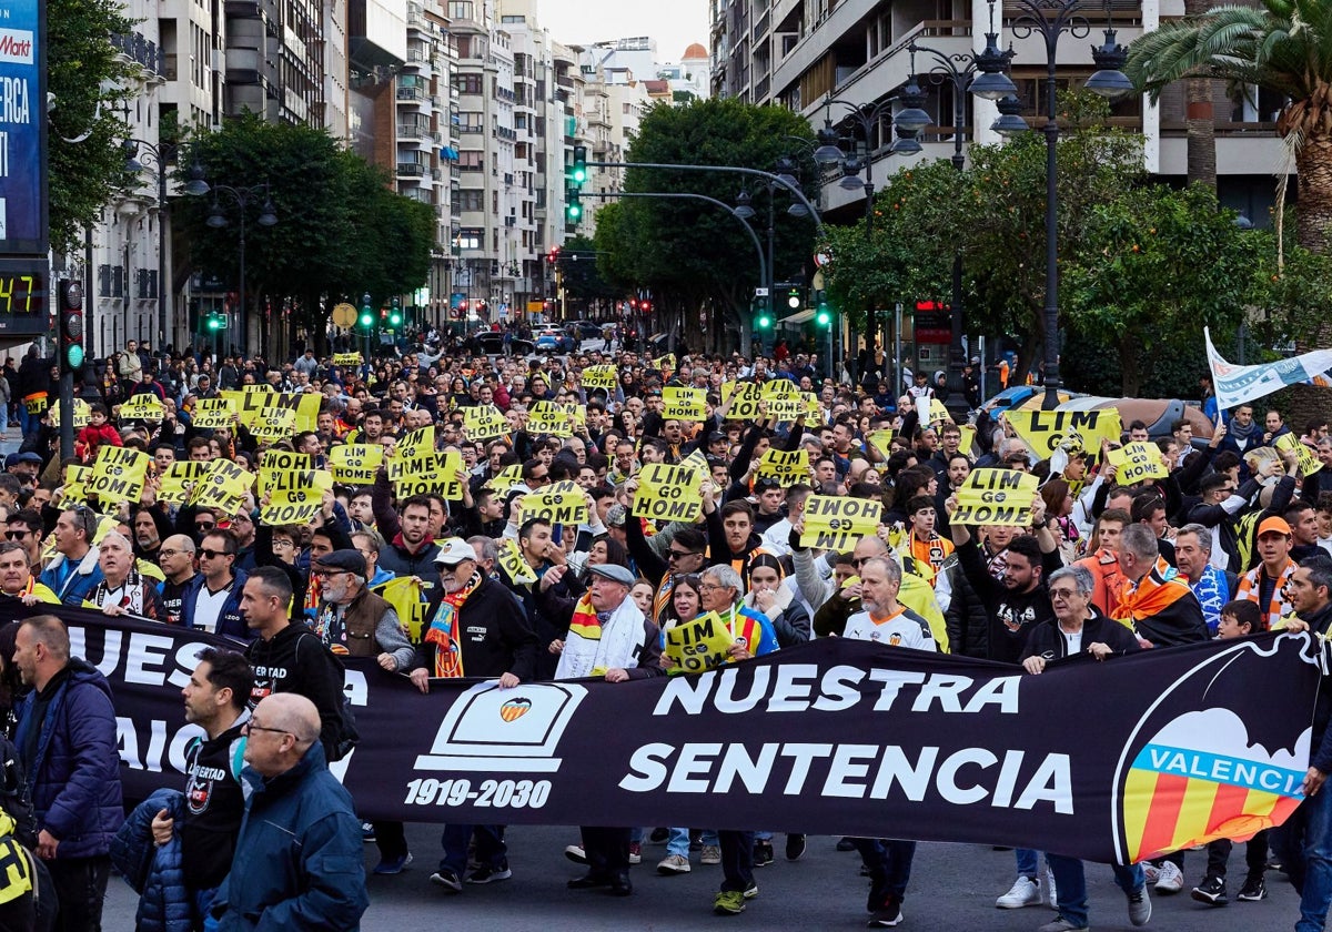
{"label": "tall dark street lamp post closest to the palm tree", "polygon": [[[1011,0],[1018,9],[1012,20],[1012,33],[1019,39],[1039,35],[1046,44],[1046,398],[1042,407],[1059,406],[1059,121],[1055,109],[1055,71],[1059,37],[1068,32],[1086,37],[1091,24],[1082,11],[1090,5],[1084,0]],[[1086,88],[1102,97],[1115,99],[1130,93],[1132,83],[1123,72],[1128,53],[1115,41],[1110,20],[1110,0],[1106,9],[1106,43],[1092,48],[1098,71],[1087,79]]]}

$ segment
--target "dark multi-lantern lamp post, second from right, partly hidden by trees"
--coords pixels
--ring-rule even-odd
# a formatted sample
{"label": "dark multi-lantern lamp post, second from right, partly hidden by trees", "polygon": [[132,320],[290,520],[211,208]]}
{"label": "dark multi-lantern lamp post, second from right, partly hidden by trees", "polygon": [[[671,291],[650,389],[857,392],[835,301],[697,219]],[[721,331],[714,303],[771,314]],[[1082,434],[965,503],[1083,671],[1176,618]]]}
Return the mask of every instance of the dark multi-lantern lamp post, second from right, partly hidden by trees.
{"label": "dark multi-lantern lamp post, second from right, partly hidden by trees", "polygon": [[[962,153],[962,130],[967,122],[967,95],[972,93],[984,100],[1006,100],[1015,95],[1018,88],[1008,77],[1008,63],[1012,51],[1004,52],[999,48],[999,33],[994,24],[995,4],[990,0],[990,32],[986,33],[986,48],[972,53],[947,53],[939,49],[920,45],[912,41],[907,45],[911,53],[911,83],[902,95],[907,109],[898,115],[898,125],[916,130],[911,121],[914,113],[920,112],[924,95],[916,85],[918,79],[923,79],[935,87],[950,85],[952,88],[952,168],[959,173],[966,166],[966,156]],[[926,56],[927,67],[923,72],[916,72],[916,53]],[[962,253],[952,256],[952,301],[948,310],[948,398],[943,402],[956,423],[967,415],[966,386],[963,385],[963,369],[966,357],[962,349]]]}

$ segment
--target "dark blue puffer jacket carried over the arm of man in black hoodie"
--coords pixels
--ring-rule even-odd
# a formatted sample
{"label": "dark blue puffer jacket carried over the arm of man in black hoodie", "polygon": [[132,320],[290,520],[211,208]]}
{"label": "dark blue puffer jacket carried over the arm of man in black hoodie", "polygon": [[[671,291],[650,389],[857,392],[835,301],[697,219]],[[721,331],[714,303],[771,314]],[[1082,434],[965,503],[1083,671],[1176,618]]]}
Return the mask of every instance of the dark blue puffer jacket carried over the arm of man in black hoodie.
{"label": "dark blue puffer jacket carried over the arm of man in black hoodie", "polygon": [[185,816],[185,798],[178,790],[159,790],[140,803],[111,843],[111,863],[139,893],[136,932],[190,932],[192,903],[185,888],[180,836],[163,847],[153,844],[153,817],[166,810],[172,819]]}

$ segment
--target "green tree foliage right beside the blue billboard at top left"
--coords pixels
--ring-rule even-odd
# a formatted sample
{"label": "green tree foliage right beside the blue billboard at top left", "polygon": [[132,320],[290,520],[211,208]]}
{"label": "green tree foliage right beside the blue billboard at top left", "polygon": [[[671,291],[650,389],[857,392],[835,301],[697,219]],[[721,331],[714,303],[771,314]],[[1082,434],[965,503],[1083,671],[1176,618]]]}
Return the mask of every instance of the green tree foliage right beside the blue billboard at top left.
{"label": "green tree foliage right beside the blue billboard at top left", "polygon": [[[80,244],[84,228],[97,222],[127,182],[121,107],[139,65],[119,59],[109,41],[135,25],[123,11],[116,0],[47,4],[47,92],[55,96],[48,133],[51,245],[57,252]],[[35,105],[44,109],[44,101]]]}

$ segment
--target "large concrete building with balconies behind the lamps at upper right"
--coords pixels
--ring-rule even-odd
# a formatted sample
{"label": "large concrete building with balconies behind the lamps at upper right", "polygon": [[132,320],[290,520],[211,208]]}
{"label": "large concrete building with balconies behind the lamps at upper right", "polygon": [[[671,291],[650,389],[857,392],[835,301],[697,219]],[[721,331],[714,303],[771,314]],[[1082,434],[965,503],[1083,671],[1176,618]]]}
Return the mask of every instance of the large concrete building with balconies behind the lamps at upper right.
{"label": "large concrete building with balconies behind the lamps at upper right", "polygon": [[[1100,43],[1106,25],[1100,4],[1087,4],[1083,13],[1091,25],[1088,37],[1066,35],[1058,49],[1059,87],[1076,87],[1094,71],[1092,40]],[[1183,0],[1112,0],[1111,21],[1119,43],[1128,45],[1143,31],[1180,17]],[[1043,122],[1046,51],[1039,36],[1014,29],[1015,5],[994,8],[999,47],[1012,47],[1012,80],[1018,85],[1022,115],[1032,126]],[[711,0],[711,91],[755,104],[779,104],[806,116],[815,128],[826,116],[835,121],[844,109],[827,101],[852,105],[890,100],[911,72],[907,45],[915,41],[944,55],[968,55],[984,48],[991,31],[991,7],[984,0]],[[928,69],[922,56],[916,72]],[[924,152],[903,160],[888,157],[891,108],[871,140],[874,176],[883,178],[902,165],[950,157],[952,138],[995,142],[990,125],[998,116],[994,104],[968,97],[964,120],[955,126],[952,85],[923,83],[926,111],[935,125],[922,134]],[[1220,198],[1255,222],[1265,221],[1273,202],[1272,172],[1281,164],[1275,112],[1280,101],[1267,100],[1256,88],[1227,89],[1215,85],[1216,157]],[[1171,178],[1185,176],[1183,88],[1168,89],[1158,107],[1140,97],[1118,101],[1115,122],[1144,133],[1148,170]],[[863,194],[827,185],[823,206],[831,217],[850,218],[863,204]]]}

